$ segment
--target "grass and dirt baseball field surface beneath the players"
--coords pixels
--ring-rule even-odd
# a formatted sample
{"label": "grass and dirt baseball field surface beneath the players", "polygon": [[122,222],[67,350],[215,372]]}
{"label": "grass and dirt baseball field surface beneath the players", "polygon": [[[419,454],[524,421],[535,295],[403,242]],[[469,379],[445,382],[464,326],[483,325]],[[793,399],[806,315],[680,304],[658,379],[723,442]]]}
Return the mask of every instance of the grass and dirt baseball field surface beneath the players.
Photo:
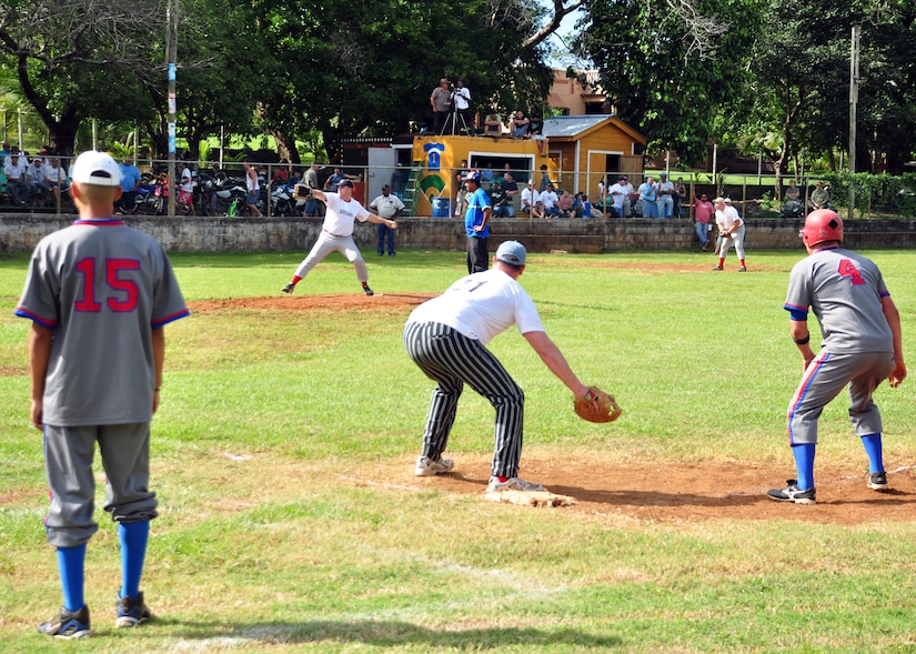
{"label": "grass and dirt baseball field surface beneath the players", "polygon": [[[916,253],[864,253],[916,356]],[[280,289],[302,253],[172,256],[192,316],[165,329],[153,421],[154,617],[113,626],[99,471],[95,637],[72,643],[36,631],[61,592],[29,323],[12,315],[29,258],[0,255],[0,651],[916,652],[916,376],[875,396],[889,491],[866,487],[840,395],[821,420],[817,504],[765,496],[795,470],[785,414],[802,370],[782,305],[801,248],[748,250],[746,274],[734,255],[712,272],[691,252],[530,254],[520,283],[548,335],[624,409],[581,421],[517,331],[491,344],[525,391],[520,476],[575,497],[564,507],[484,499],[493,410],[471,390],[455,470],[413,475],[432,383],[402,328],[465,273],[464,253],[364,255],[372,298],[336,254],[292,296]]]}

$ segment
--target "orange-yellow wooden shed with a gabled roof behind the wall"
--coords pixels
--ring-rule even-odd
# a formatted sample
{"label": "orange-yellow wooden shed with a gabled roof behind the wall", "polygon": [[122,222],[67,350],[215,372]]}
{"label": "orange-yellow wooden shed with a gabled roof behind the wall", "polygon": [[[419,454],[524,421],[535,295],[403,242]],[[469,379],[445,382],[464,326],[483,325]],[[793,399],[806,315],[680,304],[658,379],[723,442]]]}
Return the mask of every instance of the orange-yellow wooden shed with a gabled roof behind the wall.
{"label": "orange-yellow wooden shed with a gabled roof behind the wall", "polygon": [[642,175],[646,139],[613,114],[546,118],[544,135],[554,164],[551,168],[566,190],[594,195],[605,177],[610,185],[617,173],[630,175],[631,181]]}

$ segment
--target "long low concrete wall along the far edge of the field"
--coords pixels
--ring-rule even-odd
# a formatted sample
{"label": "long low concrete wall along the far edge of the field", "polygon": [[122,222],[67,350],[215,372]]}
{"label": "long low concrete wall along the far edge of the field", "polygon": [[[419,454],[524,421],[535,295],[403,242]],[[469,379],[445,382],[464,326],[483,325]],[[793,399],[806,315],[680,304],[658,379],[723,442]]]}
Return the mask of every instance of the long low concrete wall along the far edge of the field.
{"label": "long low concrete wall along the far edge of the field", "polygon": [[[0,252],[30,251],[72,217],[48,214],[0,215]],[[131,217],[128,224],[158,239],[173,252],[305,251],[321,231],[320,219],[280,218],[161,218]],[[454,219],[399,221],[397,246],[464,250],[464,223]],[[752,219],[747,223],[748,250],[801,249],[798,230],[804,221]],[[374,250],[375,225],[358,224],[356,244]],[[686,250],[696,248],[687,220],[530,220],[496,219],[491,240],[521,241],[532,252],[565,250],[597,253],[606,250]],[[855,220],[846,224],[850,248],[916,248],[916,221]]]}

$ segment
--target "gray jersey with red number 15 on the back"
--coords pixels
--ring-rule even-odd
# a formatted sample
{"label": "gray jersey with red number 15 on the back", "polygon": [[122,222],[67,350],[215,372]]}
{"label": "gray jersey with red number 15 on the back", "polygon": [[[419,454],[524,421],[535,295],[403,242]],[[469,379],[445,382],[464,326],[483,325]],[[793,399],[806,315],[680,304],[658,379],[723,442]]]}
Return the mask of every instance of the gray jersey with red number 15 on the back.
{"label": "gray jersey with red number 15 on the back", "polygon": [[16,314],[54,332],[46,424],[79,426],[152,419],[151,330],[189,311],[162,246],[104,219],[41,240]]}

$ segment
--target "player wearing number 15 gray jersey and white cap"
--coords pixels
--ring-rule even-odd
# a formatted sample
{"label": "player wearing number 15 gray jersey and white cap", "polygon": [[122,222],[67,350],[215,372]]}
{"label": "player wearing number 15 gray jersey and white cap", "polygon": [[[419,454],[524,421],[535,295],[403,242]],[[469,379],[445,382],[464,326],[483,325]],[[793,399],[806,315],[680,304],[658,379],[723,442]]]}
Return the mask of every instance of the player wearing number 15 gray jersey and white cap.
{"label": "player wearing number 15 gray jersey and white cap", "polygon": [[140,592],[158,504],[149,490],[150,421],[162,386],[163,326],[189,314],[162,246],[112,218],[121,195],[114,160],[84,152],[71,178],[79,219],[38,244],[16,309],[32,321],[31,421],[44,433],[51,490],[44,525],[63,590],[63,607],[39,631],[59,638],[92,634],[83,570],[87,543],[99,529],[92,519],[95,443],[104,510],[121,544],[115,625],[150,618]]}

